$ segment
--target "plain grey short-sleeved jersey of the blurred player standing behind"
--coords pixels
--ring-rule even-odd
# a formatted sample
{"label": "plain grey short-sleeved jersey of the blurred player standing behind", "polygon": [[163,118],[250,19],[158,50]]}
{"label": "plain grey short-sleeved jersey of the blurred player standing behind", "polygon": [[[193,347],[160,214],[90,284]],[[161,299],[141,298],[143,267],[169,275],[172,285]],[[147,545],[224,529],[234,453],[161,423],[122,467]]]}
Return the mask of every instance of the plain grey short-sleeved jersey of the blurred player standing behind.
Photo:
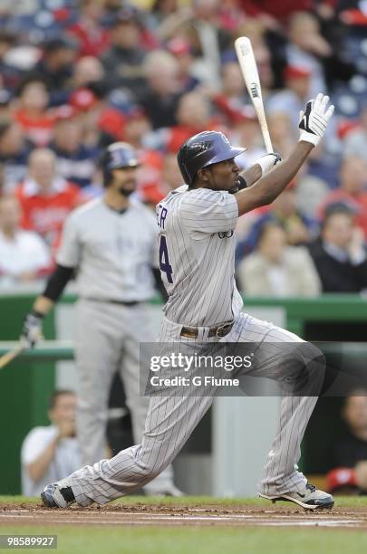
{"label": "plain grey short-sleeved jersey of the blurred player standing behind", "polygon": [[145,301],[154,294],[157,234],[144,205],[131,202],[119,214],[97,198],[67,218],[56,261],[77,268],[82,298]]}

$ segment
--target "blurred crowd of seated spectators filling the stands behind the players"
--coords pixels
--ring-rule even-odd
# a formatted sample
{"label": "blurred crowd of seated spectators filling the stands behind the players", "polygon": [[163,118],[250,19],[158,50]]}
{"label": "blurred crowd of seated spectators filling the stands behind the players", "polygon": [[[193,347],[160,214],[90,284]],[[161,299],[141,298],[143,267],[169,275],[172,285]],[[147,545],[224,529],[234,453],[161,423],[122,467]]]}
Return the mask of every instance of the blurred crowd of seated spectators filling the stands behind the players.
{"label": "blurred crowd of seated spectators filling the stands behind the players", "polygon": [[333,124],[273,205],[242,217],[248,295],[367,290],[367,8],[357,0],[2,0],[0,284],[53,270],[66,215],[101,195],[101,151],[137,148],[152,209],[182,183],[180,145],[224,131],[248,167],[266,154],[237,64],[250,37],[275,151],[315,93]]}

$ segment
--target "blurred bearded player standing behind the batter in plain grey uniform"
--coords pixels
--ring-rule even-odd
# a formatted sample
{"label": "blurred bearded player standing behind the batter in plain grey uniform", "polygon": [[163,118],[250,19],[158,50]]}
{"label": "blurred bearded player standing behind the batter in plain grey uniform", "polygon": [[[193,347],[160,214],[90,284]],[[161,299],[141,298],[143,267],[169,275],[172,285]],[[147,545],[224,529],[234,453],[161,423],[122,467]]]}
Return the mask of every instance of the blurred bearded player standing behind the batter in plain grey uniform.
{"label": "blurred bearded player standing behind the batter in plain grey uniform", "polygon": [[[77,273],[77,434],[85,464],[106,455],[108,398],[115,372],[121,375],[137,442],[148,412],[149,398],[140,396],[140,340],[155,339],[147,301],[161,279],[158,269],[156,282],[153,277],[158,264],[155,217],[129,198],[138,166],[129,144],[117,142],[106,149],[101,159],[105,193],[66,220],[56,270],[24,320],[22,340],[32,346],[41,336],[43,316]],[[179,494],[171,468],[145,492]]]}

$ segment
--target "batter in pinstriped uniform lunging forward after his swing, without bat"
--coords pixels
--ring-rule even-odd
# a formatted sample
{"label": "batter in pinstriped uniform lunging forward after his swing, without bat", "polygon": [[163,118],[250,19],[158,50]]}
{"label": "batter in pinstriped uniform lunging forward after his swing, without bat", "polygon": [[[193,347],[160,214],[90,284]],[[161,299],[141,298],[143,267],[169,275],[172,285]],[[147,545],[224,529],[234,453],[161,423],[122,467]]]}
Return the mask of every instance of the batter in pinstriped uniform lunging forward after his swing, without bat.
{"label": "batter in pinstriped uniform lunging forward after his swing, without bat", "polygon": [[[295,177],[324,136],[333,114],[328,100],[319,94],[307,103],[299,124],[300,139],[276,166],[278,157],[267,154],[240,174],[235,158],[245,148],[234,148],[217,131],[199,133],[180,148],[179,168],[186,185],[158,205],[159,266],[169,292],[159,334],[163,346],[172,343],[173,349],[173,343],[185,341],[200,354],[223,341],[269,341],[282,344],[285,350],[289,345],[301,348],[306,344],[293,333],[241,312],[234,279],[234,229],[239,215],[271,204]],[[277,373],[282,378],[286,371],[286,364],[283,368],[273,363],[262,368],[262,376]],[[160,376],[172,373],[169,367]],[[264,498],[293,501],[307,510],[333,507],[333,497],[308,483],[297,468],[304,429],[316,400],[317,396],[282,398],[278,429],[259,483]],[[199,392],[151,396],[141,444],[51,483],[42,493],[44,505],[103,504],[135,491],[172,462],[212,402],[213,396]]]}

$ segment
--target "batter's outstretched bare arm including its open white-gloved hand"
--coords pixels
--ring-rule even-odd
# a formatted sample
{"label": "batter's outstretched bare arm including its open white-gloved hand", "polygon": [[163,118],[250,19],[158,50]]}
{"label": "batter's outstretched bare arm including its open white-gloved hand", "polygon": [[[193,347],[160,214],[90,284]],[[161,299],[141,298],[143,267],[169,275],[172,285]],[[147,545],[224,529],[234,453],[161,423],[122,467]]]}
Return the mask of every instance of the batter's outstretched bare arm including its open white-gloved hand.
{"label": "batter's outstretched bare arm including its open white-gloved hand", "polygon": [[318,94],[315,100],[308,101],[304,112],[300,114],[300,139],[291,154],[255,185],[235,194],[239,215],[251,212],[261,205],[271,204],[295,177],[312,148],[324,136],[327,123],[333,115],[333,106],[327,108],[328,101],[329,97],[324,94]]}

